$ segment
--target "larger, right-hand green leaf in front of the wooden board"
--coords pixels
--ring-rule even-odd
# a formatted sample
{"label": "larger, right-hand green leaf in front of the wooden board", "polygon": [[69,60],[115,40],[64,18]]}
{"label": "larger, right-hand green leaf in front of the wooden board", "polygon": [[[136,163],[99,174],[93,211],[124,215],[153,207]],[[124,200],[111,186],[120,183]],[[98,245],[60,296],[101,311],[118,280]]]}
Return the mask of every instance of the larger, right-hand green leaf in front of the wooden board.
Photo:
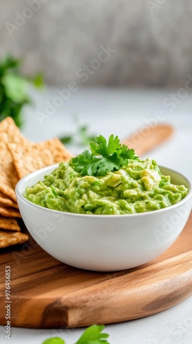
{"label": "larger, right-hand green leaf in front of the wooden board", "polygon": [[104,330],[104,325],[92,325],[88,327],[80,339],[75,344],[109,344],[105,338],[108,334],[101,333]]}

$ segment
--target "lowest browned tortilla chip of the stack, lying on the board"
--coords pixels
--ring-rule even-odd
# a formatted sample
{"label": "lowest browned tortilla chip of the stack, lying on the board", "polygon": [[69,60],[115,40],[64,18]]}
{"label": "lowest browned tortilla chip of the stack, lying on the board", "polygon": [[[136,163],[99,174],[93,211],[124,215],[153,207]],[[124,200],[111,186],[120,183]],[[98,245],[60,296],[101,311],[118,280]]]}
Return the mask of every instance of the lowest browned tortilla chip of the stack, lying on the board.
{"label": "lowest browned tortilla chip of the stack, lying on the board", "polygon": [[23,244],[23,242],[27,241],[28,239],[29,236],[27,234],[0,230],[0,248],[15,244]]}

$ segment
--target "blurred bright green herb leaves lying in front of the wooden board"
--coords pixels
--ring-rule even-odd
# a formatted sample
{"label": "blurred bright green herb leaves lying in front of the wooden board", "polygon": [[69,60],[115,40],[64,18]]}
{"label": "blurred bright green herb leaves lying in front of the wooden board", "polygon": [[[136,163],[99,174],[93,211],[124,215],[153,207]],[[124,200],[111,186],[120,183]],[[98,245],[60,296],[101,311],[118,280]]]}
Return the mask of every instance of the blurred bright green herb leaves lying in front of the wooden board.
{"label": "blurred bright green herb leaves lying in front of the wooden board", "polygon": [[[101,333],[104,330],[104,325],[92,325],[87,327],[80,339],[75,344],[110,344],[106,338],[108,334]],[[53,337],[47,339],[42,344],[65,344],[60,337]]]}

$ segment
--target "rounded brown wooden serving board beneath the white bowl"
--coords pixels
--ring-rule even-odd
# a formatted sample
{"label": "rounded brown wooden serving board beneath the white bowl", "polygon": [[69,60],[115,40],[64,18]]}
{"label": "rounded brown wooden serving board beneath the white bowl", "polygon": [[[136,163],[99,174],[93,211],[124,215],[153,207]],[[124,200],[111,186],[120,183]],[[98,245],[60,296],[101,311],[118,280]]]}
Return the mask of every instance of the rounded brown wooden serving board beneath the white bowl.
{"label": "rounded brown wooden serving board beneath the white bowl", "polygon": [[117,323],[171,308],[192,294],[192,215],[175,244],[149,264],[121,272],[71,268],[34,241],[1,252],[0,323],[5,266],[11,267],[11,325],[81,327]]}

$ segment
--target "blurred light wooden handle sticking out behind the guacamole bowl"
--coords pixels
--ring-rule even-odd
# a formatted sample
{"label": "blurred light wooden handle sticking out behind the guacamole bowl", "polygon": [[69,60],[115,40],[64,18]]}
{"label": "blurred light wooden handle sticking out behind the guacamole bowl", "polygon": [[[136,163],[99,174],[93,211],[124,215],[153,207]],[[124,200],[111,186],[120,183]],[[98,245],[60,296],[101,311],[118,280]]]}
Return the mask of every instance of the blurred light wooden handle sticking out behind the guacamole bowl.
{"label": "blurred light wooden handle sticking out behind the guacamole bowl", "polygon": [[173,127],[170,125],[145,125],[136,133],[122,140],[122,143],[133,148],[136,154],[140,156],[168,140],[172,134]]}

